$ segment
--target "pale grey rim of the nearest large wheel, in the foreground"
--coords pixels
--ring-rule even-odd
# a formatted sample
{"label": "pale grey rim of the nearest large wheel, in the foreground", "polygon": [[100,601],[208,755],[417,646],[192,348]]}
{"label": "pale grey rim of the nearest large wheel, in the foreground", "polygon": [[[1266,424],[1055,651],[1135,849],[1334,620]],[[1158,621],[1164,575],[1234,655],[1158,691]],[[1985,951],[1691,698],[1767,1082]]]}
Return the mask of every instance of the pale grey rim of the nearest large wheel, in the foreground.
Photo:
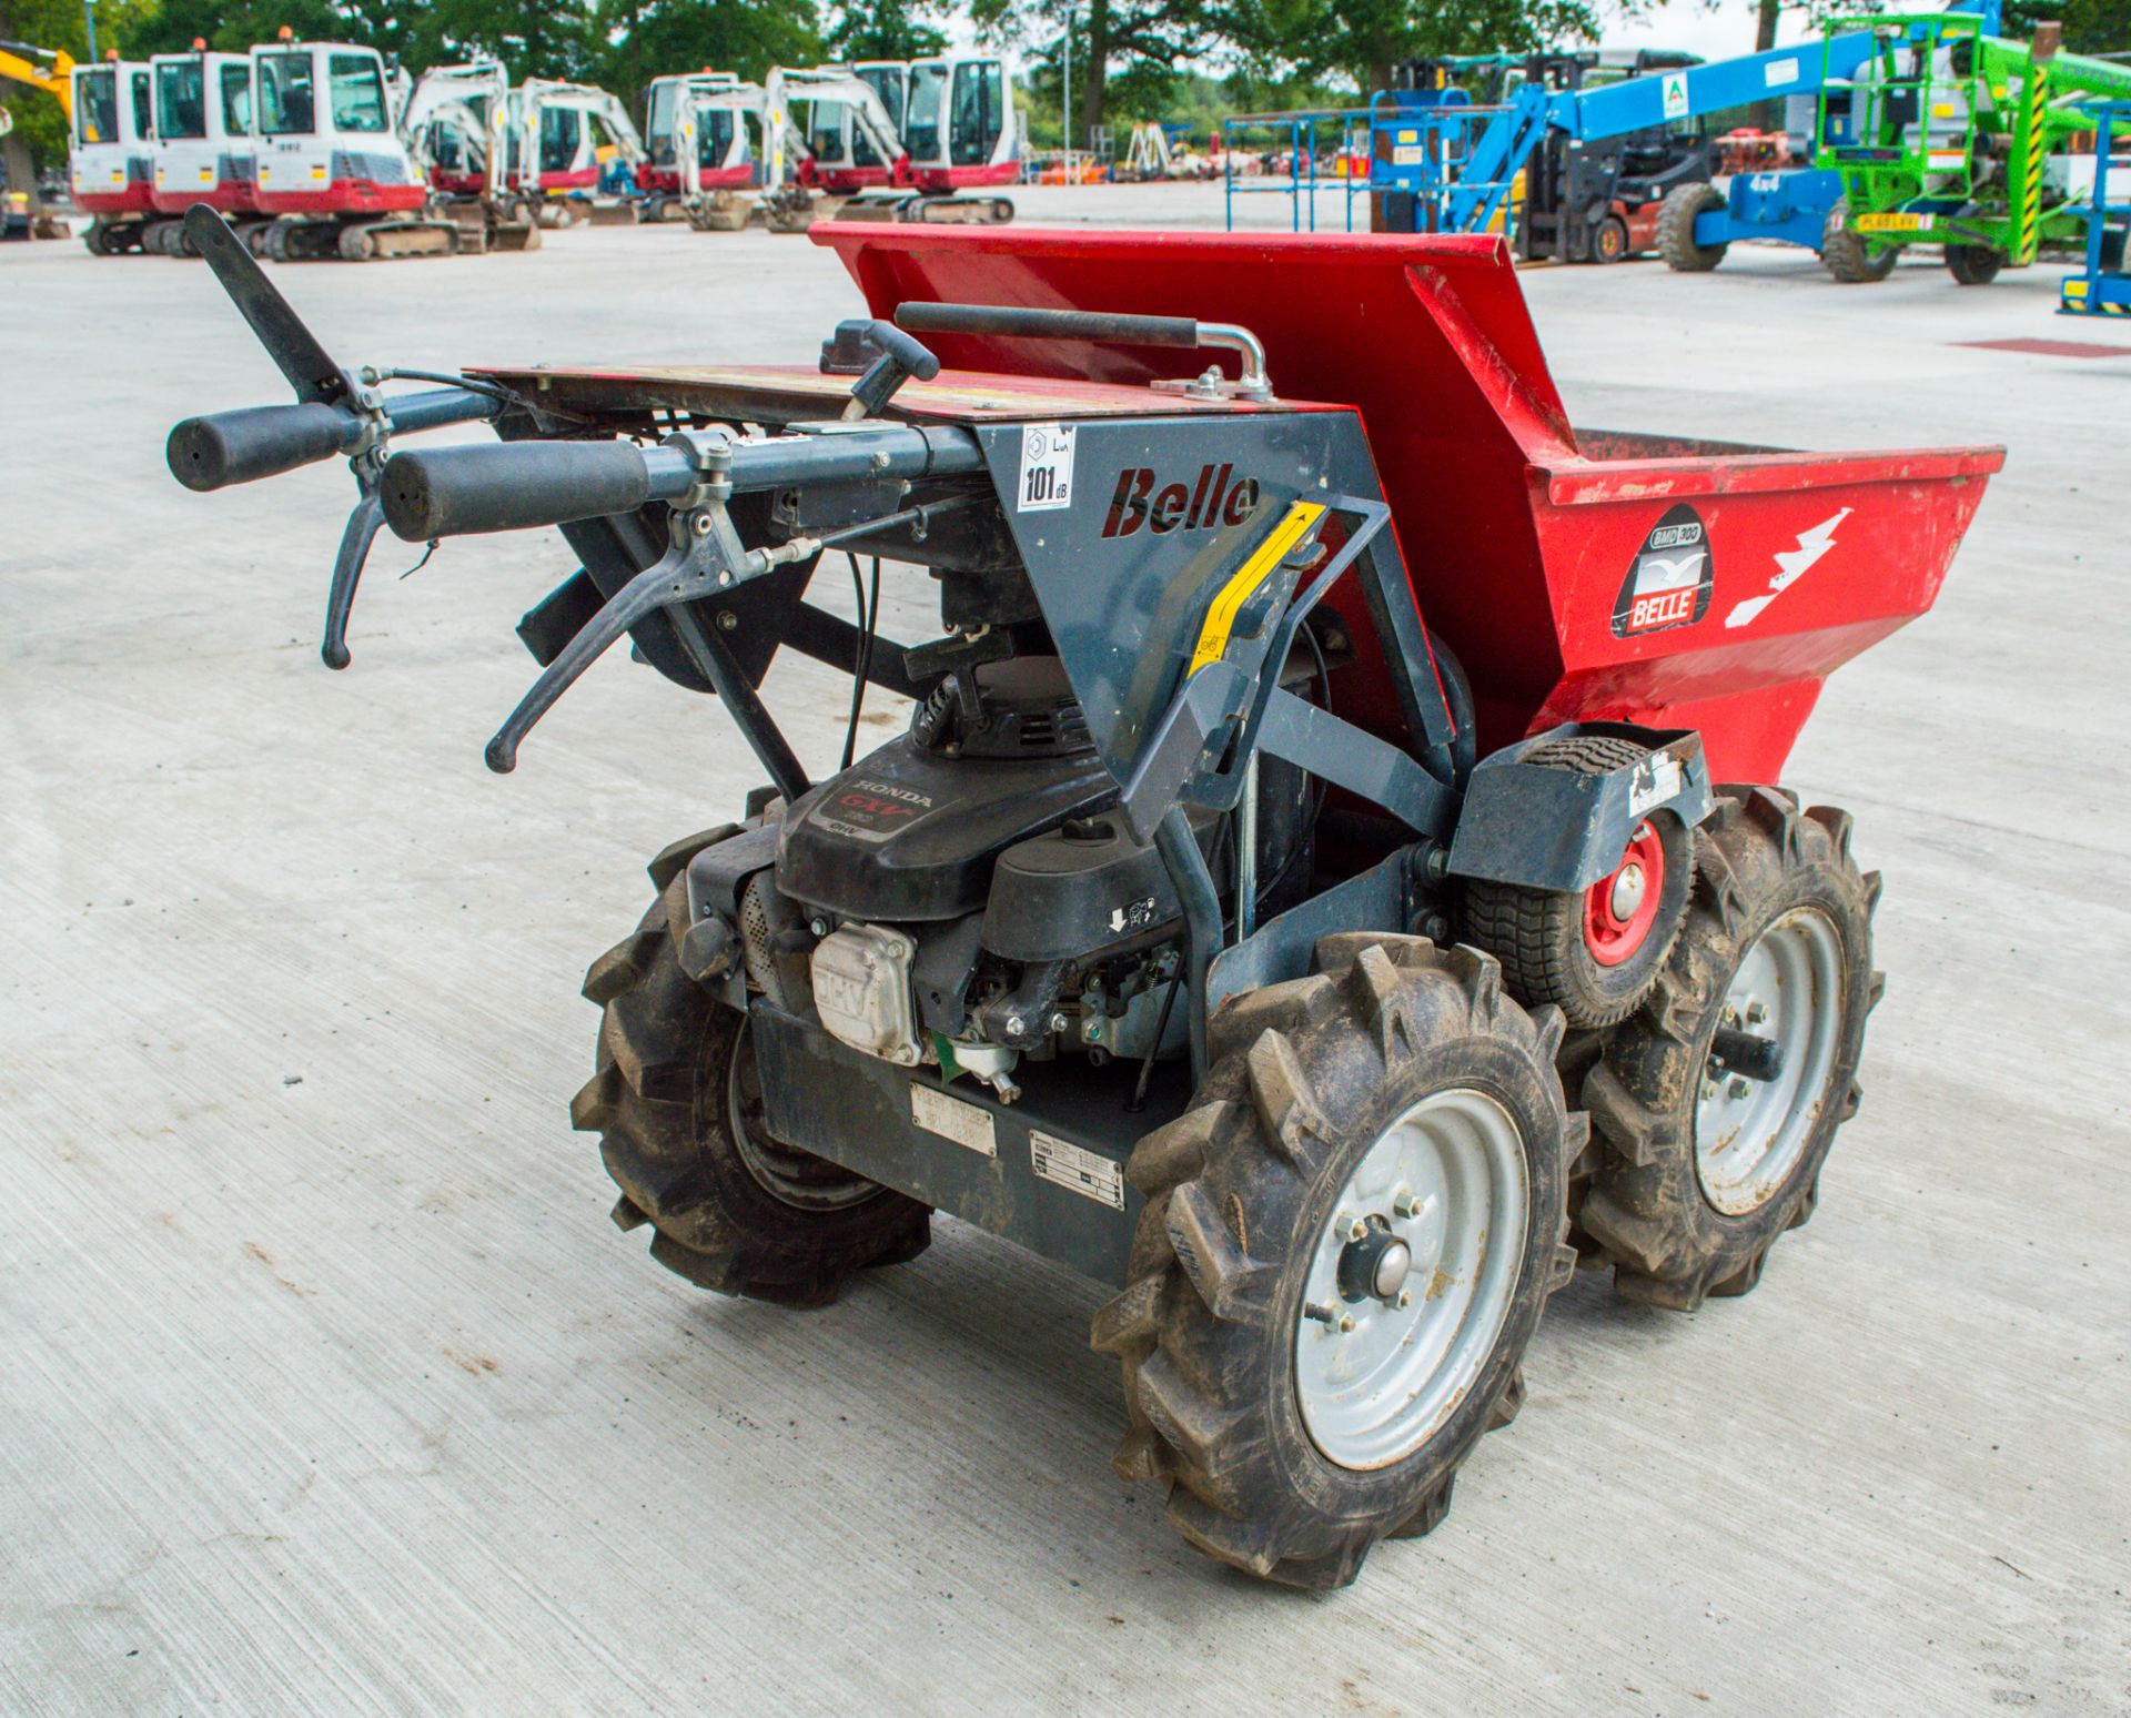
{"label": "pale grey rim of the nearest large wheel, in the foreground", "polygon": [[1483,1091],[1424,1098],[1362,1153],[1296,1315],[1296,1400],[1325,1460],[1404,1460],[1470,1396],[1517,1298],[1528,1209],[1524,1136]]}

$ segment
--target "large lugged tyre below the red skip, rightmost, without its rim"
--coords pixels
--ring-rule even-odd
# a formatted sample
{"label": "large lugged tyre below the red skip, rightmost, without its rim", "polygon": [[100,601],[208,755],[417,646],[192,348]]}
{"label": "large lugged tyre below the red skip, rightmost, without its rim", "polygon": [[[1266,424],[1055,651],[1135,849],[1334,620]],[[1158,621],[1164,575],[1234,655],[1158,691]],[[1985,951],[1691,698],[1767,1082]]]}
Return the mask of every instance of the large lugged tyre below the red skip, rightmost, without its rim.
{"label": "large lugged tyre below the red skip, rightmost, without its rim", "polygon": [[[1686,925],[1656,989],[1607,1040],[1583,1079],[1596,1174],[1579,1228],[1632,1300],[1694,1311],[1707,1294],[1745,1294],[1769,1247],[1813,1213],[1835,1130],[1858,1106],[1865,1017],[1880,1002],[1871,917],[1880,876],[1850,857],[1850,814],[1769,787],[1722,787],[1694,831],[1696,882]],[[1703,1194],[1694,1115],[1726,991],[1756,938],[1796,906],[1816,906],[1839,944],[1841,1019],[1818,1117],[1796,1164],[1754,1211],[1728,1215]]]}

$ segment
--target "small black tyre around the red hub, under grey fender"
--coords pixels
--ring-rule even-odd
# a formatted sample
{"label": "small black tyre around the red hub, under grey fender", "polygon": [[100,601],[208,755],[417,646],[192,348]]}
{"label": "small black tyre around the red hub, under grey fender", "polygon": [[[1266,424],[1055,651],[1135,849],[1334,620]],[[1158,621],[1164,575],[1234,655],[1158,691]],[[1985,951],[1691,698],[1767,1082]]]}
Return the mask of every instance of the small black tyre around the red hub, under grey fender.
{"label": "small black tyre around the red hub, under grey fender", "polygon": [[[1536,746],[1526,763],[1603,776],[1641,763],[1649,746],[1613,735],[1579,735]],[[1583,940],[1583,891],[1524,889],[1515,882],[1466,878],[1458,891],[1458,921],[1466,942],[1502,961],[1502,983],[1528,1006],[1551,1004],[1575,1027],[1624,1021],[1658,983],[1686,919],[1694,874],[1694,844],[1679,819],[1652,819],[1664,846],[1664,882],[1658,919],[1643,946],[1620,966],[1600,966]]]}

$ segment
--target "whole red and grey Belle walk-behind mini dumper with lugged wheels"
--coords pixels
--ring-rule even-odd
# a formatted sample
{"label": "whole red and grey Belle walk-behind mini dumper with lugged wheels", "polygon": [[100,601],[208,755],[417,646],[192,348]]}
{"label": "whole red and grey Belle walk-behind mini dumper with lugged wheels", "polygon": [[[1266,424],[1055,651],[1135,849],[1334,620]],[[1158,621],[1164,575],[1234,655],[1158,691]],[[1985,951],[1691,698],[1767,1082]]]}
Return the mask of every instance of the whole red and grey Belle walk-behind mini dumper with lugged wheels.
{"label": "whole red and grey Belle walk-behind mini dumper with lugged wheels", "polygon": [[[582,563],[490,767],[624,635],[759,759],[584,980],[571,1119],[661,1264],[814,1307],[936,1211],[1063,1260],[1119,1473],[1325,1588],[1443,1520],[1579,1262],[1690,1309],[1811,1215],[1880,882],[1777,778],[1999,450],[1579,435],[1487,237],[829,222],[872,315],[818,371],[390,394],[196,222],[300,403],[179,424],[181,482],[486,418],[373,469],[409,541]],[[938,635],[810,603],[825,556]],[[782,648],[908,731],[810,776]]]}

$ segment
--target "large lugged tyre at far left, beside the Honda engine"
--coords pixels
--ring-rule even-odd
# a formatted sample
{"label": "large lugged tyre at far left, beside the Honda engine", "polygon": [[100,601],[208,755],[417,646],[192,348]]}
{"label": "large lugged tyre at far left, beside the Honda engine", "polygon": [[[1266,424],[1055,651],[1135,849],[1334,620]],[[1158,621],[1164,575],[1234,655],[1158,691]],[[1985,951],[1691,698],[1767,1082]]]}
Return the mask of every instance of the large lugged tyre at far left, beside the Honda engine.
{"label": "large lugged tyre at far left, beside the Honda engine", "polygon": [[688,844],[676,844],[652,861],[663,897],[584,976],[584,995],[603,1015],[571,1125],[599,1134],[622,1192],[614,1221],[652,1223],[663,1266],[720,1294],[820,1307],[855,1273],[923,1253],[931,1209],[886,1187],[810,1209],[778,1198],[748,1166],[727,1113],[733,1057],[748,1053],[746,1017],[680,970],[673,929],[688,923],[686,857]]}

